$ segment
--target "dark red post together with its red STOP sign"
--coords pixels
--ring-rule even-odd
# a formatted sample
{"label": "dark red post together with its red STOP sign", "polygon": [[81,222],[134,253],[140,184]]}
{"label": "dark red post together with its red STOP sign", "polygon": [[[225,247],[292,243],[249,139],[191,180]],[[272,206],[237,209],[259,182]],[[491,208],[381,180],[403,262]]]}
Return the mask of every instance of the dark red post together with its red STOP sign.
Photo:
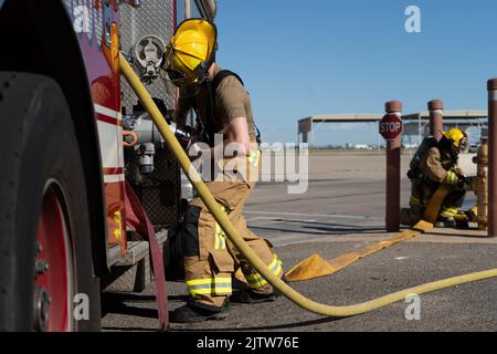
{"label": "dark red post together with its red STOP sign", "polygon": [[400,231],[400,171],[402,103],[387,102],[387,115],[380,121],[380,134],[387,140],[387,232]]}

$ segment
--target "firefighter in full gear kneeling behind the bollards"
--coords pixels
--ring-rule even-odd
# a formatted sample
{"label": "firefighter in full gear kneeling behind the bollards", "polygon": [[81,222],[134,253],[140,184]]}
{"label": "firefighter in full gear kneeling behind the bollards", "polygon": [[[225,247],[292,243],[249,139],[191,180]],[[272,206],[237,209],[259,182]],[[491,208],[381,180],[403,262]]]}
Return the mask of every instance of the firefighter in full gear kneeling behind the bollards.
{"label": "firefighter in full gear kneeling behind the bollards", "polygon": [[458,167],[459,153],[467,147],[468,138],[461,129],[444,132],[442,139],[434,137],[423,140],[411,162],[408,176],[412,181],[410,209],[401,210],[401,222],[414,226],[441,185],[448,187],[448,195],[442,204],[437,226],[467,228],[468,217],[461,211],[470,179]]}

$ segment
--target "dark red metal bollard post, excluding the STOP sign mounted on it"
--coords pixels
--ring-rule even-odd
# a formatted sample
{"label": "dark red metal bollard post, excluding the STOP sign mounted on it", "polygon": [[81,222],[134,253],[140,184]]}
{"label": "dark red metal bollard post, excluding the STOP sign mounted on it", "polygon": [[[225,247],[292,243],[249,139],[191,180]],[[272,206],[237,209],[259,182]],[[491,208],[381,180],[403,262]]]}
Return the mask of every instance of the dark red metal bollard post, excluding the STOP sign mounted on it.
{"label": "dark red metal bollard post, excluding the STOP sign mounted on it", "polygon": [[[391,101],[385,104],[388,114],[402,113],[402,103]],[[400,176],[401,176],[401,136],[387,142],[387,212],[388,232],[400,231]]]}

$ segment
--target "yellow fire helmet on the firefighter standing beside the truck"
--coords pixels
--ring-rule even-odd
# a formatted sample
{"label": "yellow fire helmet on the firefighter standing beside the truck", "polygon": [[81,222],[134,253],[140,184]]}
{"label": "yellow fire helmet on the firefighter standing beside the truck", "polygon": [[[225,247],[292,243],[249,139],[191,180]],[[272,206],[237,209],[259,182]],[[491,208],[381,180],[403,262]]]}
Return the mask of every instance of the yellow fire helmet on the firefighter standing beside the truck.
{"label": "yellow fire helmet on the firefighter standing beside the truck", "polygon": [[216,50],[215,24],[203,19],[183,21],[175,31],[162,67],[177,86],[202,83]]}

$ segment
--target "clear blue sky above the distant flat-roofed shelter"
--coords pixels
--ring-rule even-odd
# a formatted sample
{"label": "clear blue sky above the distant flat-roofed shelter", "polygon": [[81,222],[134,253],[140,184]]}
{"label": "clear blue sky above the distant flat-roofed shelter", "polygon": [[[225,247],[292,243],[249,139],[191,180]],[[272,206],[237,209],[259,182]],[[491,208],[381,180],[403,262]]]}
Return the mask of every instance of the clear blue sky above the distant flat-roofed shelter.
{"label": "clear blue sky above the distant flat-roofed shelter", "polygon": [[[495,0],[218,0],[218,62],[240,73],[266,142],[295,142],[314,114],[404,112],[442,98],[483,110],[497,76]],[[408,33],[408,6],[421,33]],[[317,144],[377,143],[373,125],[330,125]]]}

